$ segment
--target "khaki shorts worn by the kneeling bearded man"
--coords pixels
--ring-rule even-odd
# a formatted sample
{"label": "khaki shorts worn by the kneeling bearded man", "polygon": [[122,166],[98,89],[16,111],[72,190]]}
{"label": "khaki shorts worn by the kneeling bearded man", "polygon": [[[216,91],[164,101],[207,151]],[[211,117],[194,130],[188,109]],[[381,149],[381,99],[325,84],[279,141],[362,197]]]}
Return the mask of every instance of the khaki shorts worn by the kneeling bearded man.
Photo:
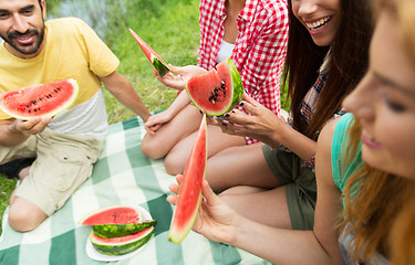
{"label": "khaki shorts worn by the kneeling bearded man", "polygon": [[0,147],[0,163],[37,157],[15,195],[33,202],[50,216],[91,176],[102,149],[103,142],[92,136],[46,128],[19,146]]}

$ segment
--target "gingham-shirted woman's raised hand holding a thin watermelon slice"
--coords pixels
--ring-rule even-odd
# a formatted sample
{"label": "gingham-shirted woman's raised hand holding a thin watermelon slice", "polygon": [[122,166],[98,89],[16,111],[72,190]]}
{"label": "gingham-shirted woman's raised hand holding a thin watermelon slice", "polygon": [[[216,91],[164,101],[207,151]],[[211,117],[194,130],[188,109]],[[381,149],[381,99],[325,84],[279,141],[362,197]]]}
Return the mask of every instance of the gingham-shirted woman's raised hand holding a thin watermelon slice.
{"label": "gingham-shirted woman's raised hand holding a thin watermelon slice", "polygon": [[157,80],[162,82],[164,85],[176,88],[178,91],[183,91],[187,84],[187,82],[197,75],[201,75],[207,71],[203,67],[196,65],[187,65],[187,66],[173,66],[168,64],[170,72],[167,73],[165,76],[158,76],[157,72],[154,71],[153,73],[157,76]]}

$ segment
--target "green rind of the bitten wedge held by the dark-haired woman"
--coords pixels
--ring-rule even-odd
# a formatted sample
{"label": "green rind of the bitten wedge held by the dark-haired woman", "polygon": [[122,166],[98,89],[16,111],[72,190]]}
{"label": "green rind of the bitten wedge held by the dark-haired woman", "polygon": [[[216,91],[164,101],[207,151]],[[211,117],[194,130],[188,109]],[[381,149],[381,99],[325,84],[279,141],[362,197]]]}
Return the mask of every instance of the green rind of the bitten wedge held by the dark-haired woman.
{"label": "green rind of the bitten wedge held by the dark-haired woman", "polygon": [[230,72],[230,75],[231,75],[231,80],[232,80],[232,87],[234,89],[231,89],[232,92],[232,100],[230,102],[230,104],[226,107],[224,107],[222,110],[218,110],[218,112],[210,112],[210,110],[206,110],[206,109],[201,109],[201,107],[198,105],[198,103],[191,97],[189,91],[187,89],[186,87],[186,92],[187,92],[187,95],[188,97],[190,98],[190,100],[193,102],[193,104],[200,110],[206,110],[206,115],[208,116],[221,116],[226,113],[228,113],[229,110],[231,110],[232,108],[235,108],[236,106],[238,106],[238,104],[242,100],[243,98],[243,85],[242,85],[242,80],[240,77],[240,74],[238,72],[238,68],[237,66],[235,65],[235,63],[232,62],[232,60],[230,57],[228,57],[227,60],[227,64],[228,64],[228,67],[229,67],[229,72]]}

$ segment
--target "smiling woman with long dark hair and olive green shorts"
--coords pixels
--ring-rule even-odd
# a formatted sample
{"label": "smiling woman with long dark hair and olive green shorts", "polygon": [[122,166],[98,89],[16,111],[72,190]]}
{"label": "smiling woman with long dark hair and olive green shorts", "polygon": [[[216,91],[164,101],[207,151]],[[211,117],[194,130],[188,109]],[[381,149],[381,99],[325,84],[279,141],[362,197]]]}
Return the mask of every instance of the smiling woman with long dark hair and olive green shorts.
{"label": "smiling woman with long dark hair and olive green shorts", "polygon": [[[342,115],[343,98],[363,77],[372,20],[367,1],[290,0],[283,73],[291,98],[288,123],[245,95],[243,108],[224,115],[225,132],[266,145],[229,148],[208,161],[206,179],[246,218],[312,230],[317,201],[314,153],[321,128]],[[260,206],[259,206],[260,205]]]}

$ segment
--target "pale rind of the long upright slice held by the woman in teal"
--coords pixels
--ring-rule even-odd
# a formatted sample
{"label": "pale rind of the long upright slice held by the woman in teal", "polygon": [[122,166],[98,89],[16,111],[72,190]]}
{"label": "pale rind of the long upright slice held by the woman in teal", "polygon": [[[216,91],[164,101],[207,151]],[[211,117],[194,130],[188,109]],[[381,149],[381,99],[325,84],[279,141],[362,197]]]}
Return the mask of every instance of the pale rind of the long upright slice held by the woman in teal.
{"label": "pale rind of the long upright slice held by the woman in teal", "polygon": [[[205,130],[205,142],[206,142],[206,145],[205,145],[205,170],[204,170],[204,176],[203,176],[203,179],[205,179],[205,176],[206,176],[206,165],[207,165],[207,150],[208,150],[208,148],[207,148],[207,145],[208,145],[208,144],[207,144],[207,124],[206,124],[206,114],[204,114],[204,118],[203,118],[203,120],[201,120],[201,124],[200,124],[200,128],[199,128],[199,130],[200,130],[201,128],[204,128],[204,130]],[[197,138],[196,138],[195,146],[196,146],[198,139],[199,139],[199,135],[198,135]],[[193,152],[194,152],[194,151],[191,151],[190,157],[193,157],[193,156],[191,156]],[[199,156],[197,156],[197,157],[199,157]],[[186,169],[187,169],[187,166],[186,166]],[[185,173],[186,173],[186,169],[185,169]],[[184,182],[181,182],[181,186],[183,186],[183,184],[184,184]],[[179,193],[179,195],[180,195],[180,193]],[[190,232],[190,230],[191,230],[191,227],[193,227],[193,225],[194,225],[194,223],[195,223],[195,221],[196,221],[197,213],[198,213],[198,211],[199,211],[199,206],[200,206],[200,201],[201,201],[201,190],[200,190],[200,193],[199,193],[199,199],[198,199],[198,201],[197,201],[197,203],[196,203],[196,206],[195,206],[195,209],[194,209],[194,211],[193,211],[193,213],[191,213],[191,216],[188,219],[188,221],[186,222],[186,224],[183,225],[183,229],[181,229],[181,230],[178,229],[178,227],[175,225],[175,218],[176,218],[176,214],[177,214],[177,211],[178,211],[178,210],[177,210],[177,209],[178,209],[178,205],[176,205],[176,210],[175,210],[175,213],[174,213],[174,215],[173,215],[173,220],[172,220],[172,223],[170,223],[170,229],[169,229],[169,232],[168,232],[168,240],[169,240],[170,242],[176,243],[176,244],[179,244],[179,243],[181,243],[181,242],[186,239],[186,236],[187,236],[188,233]]]}

